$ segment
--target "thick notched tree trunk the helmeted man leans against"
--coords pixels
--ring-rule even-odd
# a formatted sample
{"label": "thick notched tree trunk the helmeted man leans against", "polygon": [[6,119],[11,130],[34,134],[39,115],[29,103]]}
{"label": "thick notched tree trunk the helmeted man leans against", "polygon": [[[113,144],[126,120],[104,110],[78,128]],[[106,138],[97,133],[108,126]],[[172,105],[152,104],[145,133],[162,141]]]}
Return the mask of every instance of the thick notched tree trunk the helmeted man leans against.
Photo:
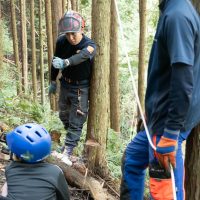
{"label": "thick notched tree trunk the helmeted man leans against", "polygon": [[[104,16],[104,20],[102,20]],[[107,23],[105,23],[105,21]],[[105,175],[106,139],[109,127],[110,0],[92,1],[92,36],[97,43],[90,89],[87,139],[94,140],[94,154],[86,146],[89,168]],[[88,152],[88,149],[90,152]],[[97,149],[97,150],[96,150]],[[92,168],[91,168],[92,166]]]}

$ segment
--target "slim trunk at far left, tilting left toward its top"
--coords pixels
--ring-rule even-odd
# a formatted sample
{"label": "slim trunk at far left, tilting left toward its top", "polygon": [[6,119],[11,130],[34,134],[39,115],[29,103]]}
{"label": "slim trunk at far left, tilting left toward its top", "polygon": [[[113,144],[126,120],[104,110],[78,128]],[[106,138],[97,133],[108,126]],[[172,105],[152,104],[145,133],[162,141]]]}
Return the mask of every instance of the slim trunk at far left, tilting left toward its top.
{"label": "slim trunk at far left, tilting left toward its top", "polygon": [[18,36],[17,36],[17,22],[15,13],[15,0],[10,0],[10,10],[11,10],[11,27],[13,36],[13,48],[15,56],[15,65],[17,68],[17,94],[22,93],[22,80],[21,80],[21,66],[19,62],[19,47],[18,47]]}

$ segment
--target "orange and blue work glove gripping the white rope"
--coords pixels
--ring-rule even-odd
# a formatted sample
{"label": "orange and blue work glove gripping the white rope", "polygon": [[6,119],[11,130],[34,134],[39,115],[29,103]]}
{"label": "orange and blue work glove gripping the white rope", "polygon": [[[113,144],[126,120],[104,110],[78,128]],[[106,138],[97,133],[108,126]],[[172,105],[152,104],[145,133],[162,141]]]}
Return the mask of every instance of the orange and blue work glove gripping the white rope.
{"label": "orange and blue work glove gripping the white rope", "polygon": [[170,164],[176,167],[178,134],[164,132],[156,147],[156,157],[162,167],[170,171]]}

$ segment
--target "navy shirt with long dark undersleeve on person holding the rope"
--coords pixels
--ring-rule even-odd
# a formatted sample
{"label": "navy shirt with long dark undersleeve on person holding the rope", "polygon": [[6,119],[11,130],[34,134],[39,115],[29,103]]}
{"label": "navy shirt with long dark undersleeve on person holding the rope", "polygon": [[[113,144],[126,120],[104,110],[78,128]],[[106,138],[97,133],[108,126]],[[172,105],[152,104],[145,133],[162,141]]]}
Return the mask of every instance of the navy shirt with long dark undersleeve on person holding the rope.
{"label": "navy shirt with long dark undersleeve on person holding the rope", "polygon": [[179,133],[200,122],[200,18],[188,0],[163,0],[145,97],[151,133]]}

